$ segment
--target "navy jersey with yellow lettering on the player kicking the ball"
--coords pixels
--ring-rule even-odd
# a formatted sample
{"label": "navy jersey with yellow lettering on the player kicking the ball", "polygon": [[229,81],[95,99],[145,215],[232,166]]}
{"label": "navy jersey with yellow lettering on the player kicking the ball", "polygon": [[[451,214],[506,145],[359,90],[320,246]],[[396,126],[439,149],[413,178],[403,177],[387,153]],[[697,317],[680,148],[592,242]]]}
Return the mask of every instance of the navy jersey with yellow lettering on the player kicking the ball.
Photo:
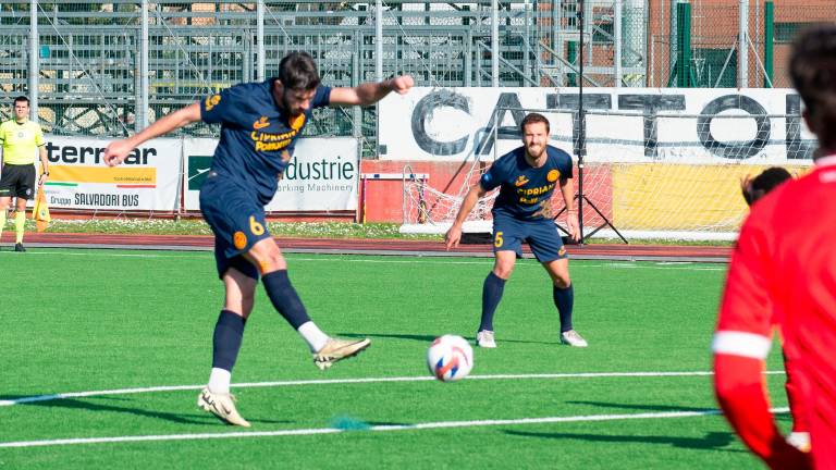
{"label": "navy jersey with yellow lettering on the player kicking the ball", "polygon": [[274,81],[235,85],[200,101],[204,122],[221,124],[212,171],[244,188],[255,188],[262,206],[275,195],[279,176],[287,168],[312,109],[328,106],[331,99],[331,88],[319,86],[310,109],[287,122],[273,100]]}

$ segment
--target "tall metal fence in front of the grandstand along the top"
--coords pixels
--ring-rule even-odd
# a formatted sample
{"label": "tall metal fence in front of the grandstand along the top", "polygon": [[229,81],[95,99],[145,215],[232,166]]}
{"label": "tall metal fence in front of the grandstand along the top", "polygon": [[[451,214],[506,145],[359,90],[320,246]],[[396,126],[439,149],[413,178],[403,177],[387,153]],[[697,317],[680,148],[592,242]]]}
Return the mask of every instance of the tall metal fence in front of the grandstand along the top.
{"label": "tall metal fence in front of the grandstand along the top", "polygon": [[[431,87],[576,86],[581,39],[587,86],[786,86],[788,41],[828,17],[825,0],[4,0],[0,103],[28,95],[53,134],[127,135],[274,75],[291,50],[310,52],[333,86],[402,73]],[[373,107],[325,109],[307,132],[362,137],[369,157],[376,123]]]}

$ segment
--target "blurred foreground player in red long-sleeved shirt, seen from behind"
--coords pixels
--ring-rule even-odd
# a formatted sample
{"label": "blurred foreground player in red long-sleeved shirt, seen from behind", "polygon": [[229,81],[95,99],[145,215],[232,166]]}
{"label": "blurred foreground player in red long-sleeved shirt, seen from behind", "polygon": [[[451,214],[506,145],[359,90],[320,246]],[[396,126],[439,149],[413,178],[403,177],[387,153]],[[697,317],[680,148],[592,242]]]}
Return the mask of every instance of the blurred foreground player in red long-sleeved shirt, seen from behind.
{"label": "blurred foreground player in red long-sleeved shirt, seen from behind", "polygon": [[[752,205],[720,307],[714,389],[746,445],[771,468],[836,468],[836,26],[802,32],[789,61],[819,139],[814,169]],[[810,454],[787,443],[770,411],[763,369],[772,330],[807,382]],[[797,410],[792,410],[794,416]]]}

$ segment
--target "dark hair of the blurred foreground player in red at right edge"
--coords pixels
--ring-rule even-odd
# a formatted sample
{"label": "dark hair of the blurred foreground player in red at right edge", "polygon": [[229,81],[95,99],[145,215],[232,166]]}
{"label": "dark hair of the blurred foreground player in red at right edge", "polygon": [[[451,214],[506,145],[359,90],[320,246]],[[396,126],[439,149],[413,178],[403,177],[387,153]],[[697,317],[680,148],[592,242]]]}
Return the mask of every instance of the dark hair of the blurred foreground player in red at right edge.
{"label": "dark hair of the blurred foreground player in red at right edge", "polygon": [[836,148],[836,26],[816,24],[801,32],[789,59],[792,86],[825,149]]}

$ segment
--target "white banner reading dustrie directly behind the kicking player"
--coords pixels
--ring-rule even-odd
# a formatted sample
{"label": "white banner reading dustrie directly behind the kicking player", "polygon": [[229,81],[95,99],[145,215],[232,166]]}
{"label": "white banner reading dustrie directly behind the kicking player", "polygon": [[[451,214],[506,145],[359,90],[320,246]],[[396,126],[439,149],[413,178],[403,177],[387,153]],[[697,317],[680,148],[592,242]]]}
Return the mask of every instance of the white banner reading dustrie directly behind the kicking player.
{"label": "white banner reading dustrie directly behind the kicking player", "polygon": [[[186,138],[183,143],[184,205],[200,209],[199,190],[212,164],[216,139]],[[287,165],[268,212],[347,211],[357,209],[358,143],[352,137],[303,138]]]}

